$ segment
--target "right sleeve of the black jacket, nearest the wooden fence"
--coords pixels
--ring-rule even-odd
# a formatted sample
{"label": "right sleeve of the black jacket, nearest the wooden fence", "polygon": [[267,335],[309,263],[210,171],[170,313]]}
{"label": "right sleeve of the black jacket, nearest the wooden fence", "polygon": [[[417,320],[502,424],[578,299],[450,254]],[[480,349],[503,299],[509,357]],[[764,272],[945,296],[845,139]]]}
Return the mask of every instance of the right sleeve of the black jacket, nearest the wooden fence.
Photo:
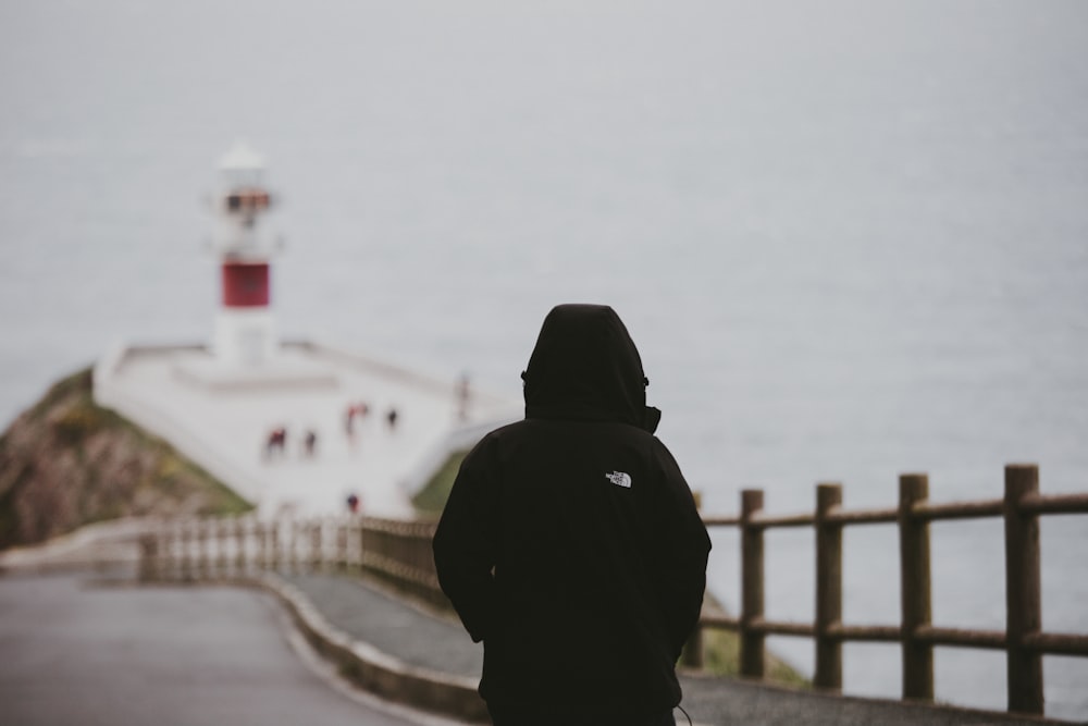
{"label": "right sleeve of the black jacket, nearest the wooden fence", "polygon": [[665,445],[658,444],[664,481],[655,497],[653,516],[659,540],[654,551],[658,602],[675,660],[680,657],[702,611],[710,538],[680,467]]}

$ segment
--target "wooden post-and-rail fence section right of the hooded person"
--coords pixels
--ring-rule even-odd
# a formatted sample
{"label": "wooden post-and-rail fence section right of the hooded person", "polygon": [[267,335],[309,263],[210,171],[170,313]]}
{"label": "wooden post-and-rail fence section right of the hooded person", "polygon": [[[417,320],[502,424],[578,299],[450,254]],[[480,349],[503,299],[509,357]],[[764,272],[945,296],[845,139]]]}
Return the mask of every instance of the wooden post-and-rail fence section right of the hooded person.
{"label": "wooden post-and-rail fence section right of the hooded person", "polygon": [[[768,635],[802,636],[816,641],[814,685],[842,689],[842,644],[848,641],[898,642],[903,657],[903,698],[934,700],[934,647],[957,645],[1006,652],[1009,710],[1042,714],[1042,656],[1088,656],[1088,636],[1041,629],[1039,517],[1088,514],[1088,494],[1042,496],[1039,470],[1033,465],[1005,467],[1001,500],[932,504],[926,475],[904,475],[899,506],[844,510],[842,488],[819,484],[812,514],[771,517],[763,510],[763,491],[741,492],[739,517],[705,518],[707,527],[737,527],[741,533],[740,617],[701,619],[702,628],[740,633],[740,672],[764,677],[764,640]],[[942,519],[1003,517],[1005,530],[1005,610],[1003,631],[935,627],[931,623],[929,522]],[[842,530],[846,526],[894,524],[899,527],[902,607],[899,625],[856,626],[842,623]],[[786,623],[764,617],[764,532],[779,527],[812,527],[816,537],[816,617]]]}

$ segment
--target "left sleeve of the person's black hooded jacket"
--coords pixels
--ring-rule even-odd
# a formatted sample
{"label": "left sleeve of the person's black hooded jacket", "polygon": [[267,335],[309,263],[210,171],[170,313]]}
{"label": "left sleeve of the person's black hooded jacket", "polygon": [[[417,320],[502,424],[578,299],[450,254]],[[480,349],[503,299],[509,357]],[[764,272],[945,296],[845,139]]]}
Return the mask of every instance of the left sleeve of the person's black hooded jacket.
{"label": "left sleeve of the person's black hooded jacket", "polygon": [[478,445],[461,463],[432,542],[438,585],[475,642],[487,637],[495,613],[492,481],[483,444]]}

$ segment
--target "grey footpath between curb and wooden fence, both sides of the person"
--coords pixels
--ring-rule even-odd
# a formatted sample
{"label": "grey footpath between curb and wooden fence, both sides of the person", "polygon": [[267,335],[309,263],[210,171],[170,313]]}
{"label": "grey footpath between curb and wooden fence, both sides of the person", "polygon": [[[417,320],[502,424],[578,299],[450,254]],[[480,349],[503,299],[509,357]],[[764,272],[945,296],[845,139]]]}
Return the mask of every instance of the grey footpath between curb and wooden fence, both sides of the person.
{"label": "grey footpath between curb and wooden fence, both sides of the person", "polygon": [[[321,613],[336,630],[369,644],[390,659],[475,682],[483,665],[482,648],[456,620],[423,607],[406,605],[379,587],[357,578],[323,574],[281,574],[285,582]],[[894,701],[823,696],[735,679],[685,674],[681,705],[704,726],[897,726],[927,724],[1064,723],[1017,718],[1006,714]],[[678,724],[687,718],[677,710]]]}

